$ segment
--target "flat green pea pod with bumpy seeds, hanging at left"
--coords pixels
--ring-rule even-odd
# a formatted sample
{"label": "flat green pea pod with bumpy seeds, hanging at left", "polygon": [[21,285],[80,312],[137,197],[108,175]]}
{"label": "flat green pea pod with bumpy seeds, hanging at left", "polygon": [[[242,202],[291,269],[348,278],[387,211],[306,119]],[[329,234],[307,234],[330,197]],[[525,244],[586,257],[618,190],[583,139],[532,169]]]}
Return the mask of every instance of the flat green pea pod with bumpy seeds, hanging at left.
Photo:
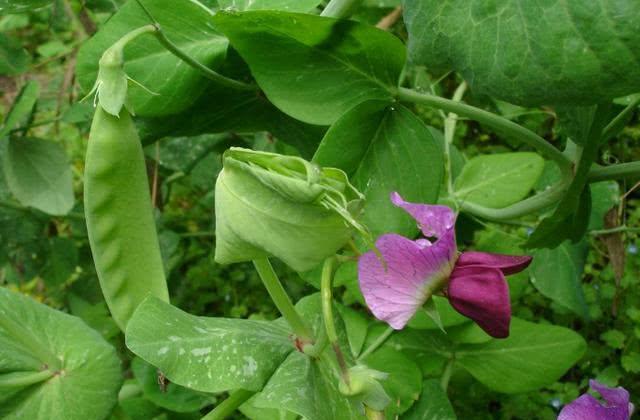
{"label": "flat green pea pod with bumpy seeds, hanging at left", "polygon": [[126,110],[96,108],[84,172],[89,243],[102,293],[123,331],[148,296],[169,301],[140,138]]}

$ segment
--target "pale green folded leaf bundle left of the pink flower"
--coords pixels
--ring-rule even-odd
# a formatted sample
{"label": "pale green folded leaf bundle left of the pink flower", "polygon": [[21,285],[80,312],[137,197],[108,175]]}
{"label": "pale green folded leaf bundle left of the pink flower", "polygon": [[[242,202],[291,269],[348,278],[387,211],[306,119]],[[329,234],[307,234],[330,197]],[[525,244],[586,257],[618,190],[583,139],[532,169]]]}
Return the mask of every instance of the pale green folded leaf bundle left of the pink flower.
{"label": "pale green folded leaf bundle left of the pink flower", "polygon": [[221,264],[275,256],[307,271],[351,238],[363,196],[335,168],[295,156],[231,148],[216,181]]}

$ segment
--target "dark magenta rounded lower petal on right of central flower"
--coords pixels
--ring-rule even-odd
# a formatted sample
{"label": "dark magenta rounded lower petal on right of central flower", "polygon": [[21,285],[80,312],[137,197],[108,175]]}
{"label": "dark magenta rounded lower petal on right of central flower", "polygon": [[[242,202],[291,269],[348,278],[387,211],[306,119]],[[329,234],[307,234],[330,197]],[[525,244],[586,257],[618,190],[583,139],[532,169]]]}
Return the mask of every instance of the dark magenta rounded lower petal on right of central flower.
{"label": "dark magenta rounded lower petal on right of central flower", "polygon": [[451,306],[473,319],[492,337],[509,336],[509,286],[497,268],[456,264],[449,280]]}

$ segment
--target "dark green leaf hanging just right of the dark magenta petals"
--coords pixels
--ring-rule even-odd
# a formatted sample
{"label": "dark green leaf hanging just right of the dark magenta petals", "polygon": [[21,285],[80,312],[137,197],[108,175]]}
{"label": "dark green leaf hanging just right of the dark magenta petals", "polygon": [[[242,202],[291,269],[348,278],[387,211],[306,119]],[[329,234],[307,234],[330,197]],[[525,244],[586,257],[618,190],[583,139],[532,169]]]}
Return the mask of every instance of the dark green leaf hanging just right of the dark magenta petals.
{"label": "dark green leaf hanging just right of the dark magenta petals", "polygon": [[531,283],[540,293],[585,319],[589,308],[582,291],[582,272],[587,252],[585,242],[565,241],[557,248],[537,250],[529,268]]}

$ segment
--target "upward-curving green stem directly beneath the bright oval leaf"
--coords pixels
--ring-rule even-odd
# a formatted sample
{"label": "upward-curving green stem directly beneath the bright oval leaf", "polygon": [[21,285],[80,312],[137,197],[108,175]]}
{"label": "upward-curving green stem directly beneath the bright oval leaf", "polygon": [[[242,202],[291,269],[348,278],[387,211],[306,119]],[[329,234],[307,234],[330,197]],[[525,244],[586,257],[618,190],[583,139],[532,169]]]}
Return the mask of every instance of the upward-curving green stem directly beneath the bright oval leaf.
{"label": "upward-curving green stem directly beneath the bright oval leaf", "polygon": [[[569,180],[569,182],[570,181],[571,180]],[[459,205],[462,211],[471,213],[474,216],[495,222],[501,222],[526,216],[556,204],[564,196],[568,186],[569,183],[566,180],[560,181],[549,189],[536,194],[533,197],[529,197],[501,209],[492,209],[465,201],[461,201]]]}

